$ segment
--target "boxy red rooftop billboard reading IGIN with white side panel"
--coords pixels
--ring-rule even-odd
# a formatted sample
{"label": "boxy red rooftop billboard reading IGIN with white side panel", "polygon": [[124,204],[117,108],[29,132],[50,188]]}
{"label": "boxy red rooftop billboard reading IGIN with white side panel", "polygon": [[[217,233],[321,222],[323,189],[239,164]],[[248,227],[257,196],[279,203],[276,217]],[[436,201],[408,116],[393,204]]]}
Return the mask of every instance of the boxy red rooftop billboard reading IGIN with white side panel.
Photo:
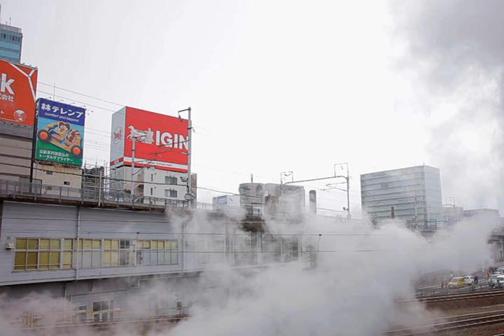
{"label": "boxy red rooftop billboard reading IGIN with white side panel", "polygon": [[113,114],[111,167],[134,164],[174,172],[188,171],[188,120],[132,107]]}

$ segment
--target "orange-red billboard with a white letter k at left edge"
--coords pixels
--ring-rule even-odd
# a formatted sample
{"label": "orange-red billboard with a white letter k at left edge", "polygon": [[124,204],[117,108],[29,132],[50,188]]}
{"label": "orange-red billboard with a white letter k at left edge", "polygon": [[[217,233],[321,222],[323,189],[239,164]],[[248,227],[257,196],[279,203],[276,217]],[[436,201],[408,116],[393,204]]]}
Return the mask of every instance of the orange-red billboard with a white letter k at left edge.
{"label": "orange-red billboard with a white letter k at left edge", "polygon": [[0,120],[34,125],[37,69],[0,60]]}

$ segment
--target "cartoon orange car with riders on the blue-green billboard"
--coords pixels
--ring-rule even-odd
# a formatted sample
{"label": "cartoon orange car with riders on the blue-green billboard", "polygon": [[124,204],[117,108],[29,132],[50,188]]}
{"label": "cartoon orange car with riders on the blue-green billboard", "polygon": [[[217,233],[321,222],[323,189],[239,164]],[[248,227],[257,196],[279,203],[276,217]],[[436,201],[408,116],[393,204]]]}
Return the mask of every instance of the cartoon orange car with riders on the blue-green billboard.
{"label": "cartoon orange car with riders on the blue-green billboard", "polygon": [[46,125],[37,133],[37,138],[45,144],[53,144],[69,152],[74,158],[82,158],[82,135],[70,123],[56,121]]}

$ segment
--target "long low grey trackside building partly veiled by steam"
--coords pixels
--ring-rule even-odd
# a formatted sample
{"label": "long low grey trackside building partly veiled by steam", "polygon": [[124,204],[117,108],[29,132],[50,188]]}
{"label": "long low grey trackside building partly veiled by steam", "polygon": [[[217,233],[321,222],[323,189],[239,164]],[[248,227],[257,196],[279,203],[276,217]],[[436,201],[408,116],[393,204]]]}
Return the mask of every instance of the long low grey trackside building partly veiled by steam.
{"label": "long low grey trackside building partly veiled by steam", "polygon": [[265,233],[257,218],[246,232],[212,211],[37,197],[0,184],[0,309],[13,328],[180,318],[220,290],[203,271],[311,260],[309,241]]}

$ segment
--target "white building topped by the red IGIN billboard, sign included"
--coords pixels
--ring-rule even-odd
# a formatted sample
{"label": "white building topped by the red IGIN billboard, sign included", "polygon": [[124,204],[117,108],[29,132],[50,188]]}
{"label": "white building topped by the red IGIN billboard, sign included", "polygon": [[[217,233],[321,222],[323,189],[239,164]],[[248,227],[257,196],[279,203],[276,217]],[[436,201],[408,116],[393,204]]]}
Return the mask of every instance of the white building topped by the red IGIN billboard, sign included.
{"label": "white building topped by the red IGIN billboard, sign included", "polygon": [[[110,153],[113,190],[139,198],[158,198],[160,202],[186,201],[190,169],[187,134],[187,120],[129,106],[113,113]],[[196,186],[194,174],[191,186]],[[195,190],[191,194],[196,200]]]}

